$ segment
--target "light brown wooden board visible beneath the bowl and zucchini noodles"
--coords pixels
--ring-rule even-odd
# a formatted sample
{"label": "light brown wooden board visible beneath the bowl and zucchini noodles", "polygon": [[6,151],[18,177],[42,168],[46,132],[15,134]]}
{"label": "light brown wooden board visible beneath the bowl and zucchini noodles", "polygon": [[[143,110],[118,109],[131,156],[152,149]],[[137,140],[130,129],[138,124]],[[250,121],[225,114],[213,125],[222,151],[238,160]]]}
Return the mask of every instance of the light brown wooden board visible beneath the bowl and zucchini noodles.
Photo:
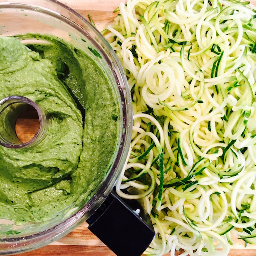
{"label": "light brown wooden board visible beneath the bowl and zucchini noodles", "polygon": [[[99,31],[112,23],[114,17],[113,10],[120,2],[126,0],[59,0],[61,3],[75,9],[87,18],[90,14]],[[256,5],[256,0],[251,3]],[[115,254],[108,249],[93,233],[88,230],[87,223],[81,224],[67,236],[31,252],[22,253],[21,256],[114,256]],[[177,252],[175,255],[179,255]],[[169,254],[166,254],[166,256]],[[244,247],[244,241],[235,239],[231,246],[229,256],[256,256],[256,245],[248,244]]]}

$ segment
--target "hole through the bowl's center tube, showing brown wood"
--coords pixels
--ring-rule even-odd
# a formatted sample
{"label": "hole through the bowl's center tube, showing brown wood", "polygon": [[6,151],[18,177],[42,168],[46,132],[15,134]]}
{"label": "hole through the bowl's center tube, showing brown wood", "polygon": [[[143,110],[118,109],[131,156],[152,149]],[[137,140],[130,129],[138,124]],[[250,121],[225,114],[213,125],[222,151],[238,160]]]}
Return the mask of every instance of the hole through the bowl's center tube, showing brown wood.
{"label": "hole through the bowl's center tube, showing brown wood", "polygon": [[35,108],[28,108],[22,111],[17,117],[15,131],[22,143],[27,143],[32,140],[39,128],[40,121]]}

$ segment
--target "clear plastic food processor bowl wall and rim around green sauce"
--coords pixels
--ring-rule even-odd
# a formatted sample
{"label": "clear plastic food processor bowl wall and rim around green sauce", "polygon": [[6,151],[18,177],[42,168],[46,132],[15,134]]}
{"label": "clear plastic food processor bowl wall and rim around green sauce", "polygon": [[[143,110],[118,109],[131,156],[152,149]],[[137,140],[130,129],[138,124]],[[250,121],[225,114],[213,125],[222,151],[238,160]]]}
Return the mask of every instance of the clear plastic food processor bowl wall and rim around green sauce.
{"label": "clear plastic food processor bowl wall and rim around green sauce", "polygon": [[[102,55],[98,64],[112,81],[122,115],[118,137],[120,146],[116,148],[113,166],[105,180],[95,189],[90,200],[80,206],[79,211],[71,215],[63,212],[58,218],[23,226],[0,220],[0,229],[6,230],[6,233],[10,231],[10,235],[0,236],[0,255],[21,253],[47,245],[89,218],[113,189],[125,164],[131,141],[132,108],[128,82],[113,49],[100,32],[77,12],[55,0],[0,0],[0,35],[26,33],[55,35],[88,54],[92,54],[88,51],[90,46]],[[14,230],[16,232],[12,232]]]}

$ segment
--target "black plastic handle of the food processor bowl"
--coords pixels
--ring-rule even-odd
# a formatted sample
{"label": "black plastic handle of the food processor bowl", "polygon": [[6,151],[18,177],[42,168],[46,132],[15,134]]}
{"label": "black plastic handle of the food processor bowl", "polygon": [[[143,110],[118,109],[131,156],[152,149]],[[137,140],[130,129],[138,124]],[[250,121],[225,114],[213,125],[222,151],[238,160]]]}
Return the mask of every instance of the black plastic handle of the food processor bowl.
{"label": "black plastic handle of the food processor bowl", "polygon": [[114,191],[87,223],[89,230],[117,256],[142,255],[155,236],[143,207],[136,200],[121,199]]}

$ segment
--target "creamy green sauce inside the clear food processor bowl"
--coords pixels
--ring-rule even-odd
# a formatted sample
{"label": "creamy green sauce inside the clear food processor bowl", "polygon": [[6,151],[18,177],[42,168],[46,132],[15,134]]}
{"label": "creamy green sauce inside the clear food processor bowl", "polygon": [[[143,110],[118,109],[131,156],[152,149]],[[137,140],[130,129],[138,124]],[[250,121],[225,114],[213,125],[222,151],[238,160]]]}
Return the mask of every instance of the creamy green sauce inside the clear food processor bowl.
{"label": "creamy green sauce inside the clear food processor bowl", "polygon": [[47,43],[25,46],[0,37],[0,99],[25,96],[50,119],[38,145],[0,145],[0,218],[16,224],[82,207],[107,175],[119,136],[117,99],[93,55],[58,38],[33,36]]}

